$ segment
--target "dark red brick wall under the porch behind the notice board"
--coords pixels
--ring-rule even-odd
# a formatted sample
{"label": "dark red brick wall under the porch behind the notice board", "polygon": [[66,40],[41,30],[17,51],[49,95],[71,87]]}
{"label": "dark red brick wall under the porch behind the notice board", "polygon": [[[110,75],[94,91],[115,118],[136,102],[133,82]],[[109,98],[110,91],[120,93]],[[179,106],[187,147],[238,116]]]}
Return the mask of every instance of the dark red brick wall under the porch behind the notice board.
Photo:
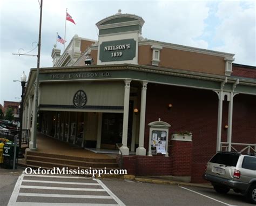
{"label": "dark red brick wall under the porch behind the notice board", "polygon": [[[167,105],[172,104],[168,109]],[[255,143],[256,97],[238,94],[234,98],[233,142]],[[228,102],[223,104],[222,141],[226,141]],[[202,175],[207,161],[215,154],[218,96],[212,91],[193,88],[149,84],[147,85],[147,105],[144,147],[149,144],[148,123],[157,121],[170,123],[170,135],[176,131],[191,131],[192,182],[204,182]],[[190,157],[188,157],[190,158]],[[173,165],[173,168],[175,166]],[[180,173],[182,174],[182,173]],[[176,174],[180,176],[179,174]]]}

